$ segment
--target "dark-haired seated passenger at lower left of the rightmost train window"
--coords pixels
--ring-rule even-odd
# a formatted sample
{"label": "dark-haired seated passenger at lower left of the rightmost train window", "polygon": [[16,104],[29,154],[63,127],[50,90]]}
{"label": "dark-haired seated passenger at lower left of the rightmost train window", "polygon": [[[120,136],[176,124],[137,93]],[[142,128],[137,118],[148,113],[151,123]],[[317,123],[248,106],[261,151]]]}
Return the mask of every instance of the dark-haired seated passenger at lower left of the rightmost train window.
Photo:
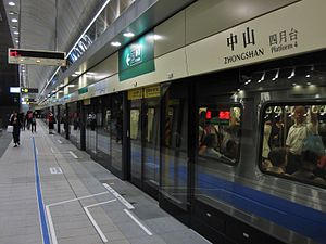
{"label": "dark-haired seated passenger at lower left of the rightmost train window", "polygon": [[285,174],[287,166],[287,150],[281,147],[273,149],[268,154],[272,167],[266,170],[269,172]]}

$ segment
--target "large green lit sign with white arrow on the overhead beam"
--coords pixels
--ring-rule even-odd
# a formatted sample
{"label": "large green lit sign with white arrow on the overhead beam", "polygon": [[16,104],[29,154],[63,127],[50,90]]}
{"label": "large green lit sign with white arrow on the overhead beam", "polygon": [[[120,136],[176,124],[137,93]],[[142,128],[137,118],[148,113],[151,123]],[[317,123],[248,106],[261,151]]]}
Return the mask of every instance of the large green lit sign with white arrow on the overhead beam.
{"label": "large green lit sign with white arrow on the overhead beam", "polygon": [[145,35],[118,51],[120,81],[154,70],[154,33]]}

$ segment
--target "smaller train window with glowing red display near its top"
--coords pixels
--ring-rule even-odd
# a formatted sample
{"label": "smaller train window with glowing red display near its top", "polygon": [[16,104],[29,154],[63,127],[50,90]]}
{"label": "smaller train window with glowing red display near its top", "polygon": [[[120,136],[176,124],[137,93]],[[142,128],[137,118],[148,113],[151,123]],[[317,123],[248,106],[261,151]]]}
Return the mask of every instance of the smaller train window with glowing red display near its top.
{"label": "smaller train window with glowing red display near its top", "polygon": [[199,162],[235,164],[240,142],[241,110],[230,104],[199,108]]}

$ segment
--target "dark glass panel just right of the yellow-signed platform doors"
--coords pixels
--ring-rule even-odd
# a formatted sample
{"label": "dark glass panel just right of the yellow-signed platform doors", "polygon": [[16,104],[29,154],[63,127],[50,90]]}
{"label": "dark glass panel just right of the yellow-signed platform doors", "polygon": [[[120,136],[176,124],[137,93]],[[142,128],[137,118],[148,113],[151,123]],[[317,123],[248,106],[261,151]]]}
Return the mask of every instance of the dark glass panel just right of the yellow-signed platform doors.
{"label": "dark glass panel just right of the yellow-signed platform doors", "polygon": [[163,86],[160,206],[189,223],[189,89],[187,84]]}

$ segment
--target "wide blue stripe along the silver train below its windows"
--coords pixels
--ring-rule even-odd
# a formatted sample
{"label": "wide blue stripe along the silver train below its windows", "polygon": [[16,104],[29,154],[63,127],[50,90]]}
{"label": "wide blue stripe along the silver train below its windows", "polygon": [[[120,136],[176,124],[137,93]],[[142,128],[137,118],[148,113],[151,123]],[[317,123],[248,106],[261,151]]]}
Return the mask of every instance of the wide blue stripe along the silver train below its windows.
{"label": "wide blue stripe along the silver train below its windows", "polygon": [[[171,171],[174,171],[172,167]],[[184,166],[179,166],[177,174],[179,179],[186,180]],[[205,172],[199,174],[197,187],[201,189],[201,192],[236,208],[261,216],[316,242],[326,243],[326,214],[323,211]]]}

